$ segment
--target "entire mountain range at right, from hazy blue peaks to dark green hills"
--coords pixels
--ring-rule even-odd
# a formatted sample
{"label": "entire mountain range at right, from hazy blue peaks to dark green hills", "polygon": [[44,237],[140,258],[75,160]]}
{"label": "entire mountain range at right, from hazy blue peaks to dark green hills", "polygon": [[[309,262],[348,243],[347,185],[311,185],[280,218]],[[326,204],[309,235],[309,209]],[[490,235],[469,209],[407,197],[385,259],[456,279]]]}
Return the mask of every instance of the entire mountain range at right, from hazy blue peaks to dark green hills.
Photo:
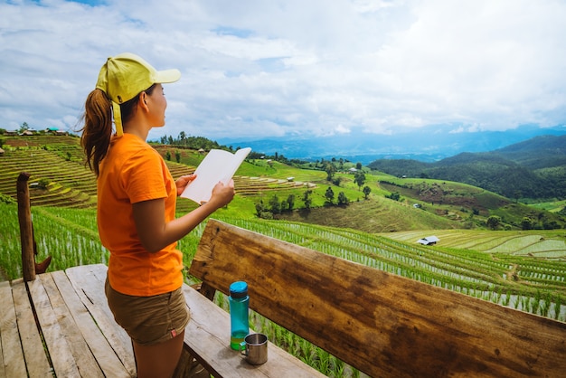
{"label": "entire mountain range at right, from hazy blue peaks to dark green hills", "polygon": [[254,152],[316,161],[344,158],[390,175],[472,184],[514,199],[566,198],[566,127],[440,133],[435,128],[377,136],[221,140]]}

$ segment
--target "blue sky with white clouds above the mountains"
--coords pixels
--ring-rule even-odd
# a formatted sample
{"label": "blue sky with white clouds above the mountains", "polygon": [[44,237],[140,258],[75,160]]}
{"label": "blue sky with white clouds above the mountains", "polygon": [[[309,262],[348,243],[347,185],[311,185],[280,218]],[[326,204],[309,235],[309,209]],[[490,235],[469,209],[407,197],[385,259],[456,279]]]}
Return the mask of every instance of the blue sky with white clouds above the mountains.
{"label": "blue sky with white clouds above the mountains", "polygon": [[0,128],[75,128],[119,52],[182,71],[150,138],[566,124],[562,0],[12,0],[0,14]]}

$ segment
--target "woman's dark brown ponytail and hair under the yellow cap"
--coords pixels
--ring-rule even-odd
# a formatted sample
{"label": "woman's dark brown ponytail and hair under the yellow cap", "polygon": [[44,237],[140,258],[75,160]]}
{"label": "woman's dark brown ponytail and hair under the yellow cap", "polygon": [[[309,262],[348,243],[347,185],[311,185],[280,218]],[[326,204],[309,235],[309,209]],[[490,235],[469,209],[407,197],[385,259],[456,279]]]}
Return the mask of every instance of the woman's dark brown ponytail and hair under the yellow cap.
{"label": "woman's dark brown ponytail and hair under the yellow cap", "polygon": [[[151,95],[155,87],[154,84],[144,91]],[[134,116],[138,101],[139,95],[120,104],[122,125]],[[96,89],[90,92],[84,109],[81,118],[84,126],[81,128],[80,145],[86,155],[86,165],[89,165],[90,170],[98,177],[100,162],[108,152],[112,137],[112,102],[103,90]]]}

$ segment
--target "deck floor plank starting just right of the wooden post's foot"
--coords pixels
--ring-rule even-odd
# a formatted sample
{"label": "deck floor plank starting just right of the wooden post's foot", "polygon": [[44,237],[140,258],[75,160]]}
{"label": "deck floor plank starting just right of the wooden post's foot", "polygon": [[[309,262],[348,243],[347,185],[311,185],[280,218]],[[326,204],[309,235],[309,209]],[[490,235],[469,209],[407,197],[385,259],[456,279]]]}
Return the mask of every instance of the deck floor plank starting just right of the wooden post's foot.
{"label": "deck floor plank starting just right of the wooden post's foot", "polygon": [[[50,273],[45,274],[49,275]],[[55,374],[63,377],[80,376],[79,368],[72,355],[71,345],[69,345],[57,321],[57,314],[43,287],[42,279],[37,278],[28,282],[28,289]],[[57,304],[57,301],[55,303]]]}

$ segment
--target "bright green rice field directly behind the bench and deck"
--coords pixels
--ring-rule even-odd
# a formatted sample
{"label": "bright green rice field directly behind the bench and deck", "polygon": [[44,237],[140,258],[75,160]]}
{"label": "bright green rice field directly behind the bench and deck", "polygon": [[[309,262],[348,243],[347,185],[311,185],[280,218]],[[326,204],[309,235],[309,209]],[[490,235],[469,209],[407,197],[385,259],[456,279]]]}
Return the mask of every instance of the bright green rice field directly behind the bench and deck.
{"label": "bright green rice field directly behind the bench and deck", "polygon": [[[0,266],[13,277],[21,274],[17,206],[0,204],[5,215],[0,231],[4,257]],[[222,219],[222,218],[221,218]],[[108,251],[99,243],[92,209],[33,207],[35,238],[42,260],[53,255],[52,268],[106,262]],[[466,295],[491,300],[544,317],[566,319],[566,260],[548,260],[513,252],[485,252],[422,246],[378,234],[305,223],[223,219],[242,228],[289,241],[346,260],[417,279]],[[179,243],[190,265],[203,228]],[[516,232],[508,232],[515,234]],[[440,243],[443,234],[439,234]],[[413,235],[416,236],[416,235]],[[490,235],[491,237],[491,235]],[[505,243],[505,236],[501,235]],[[531,239],[531,238],[529,238]],[[453,245],[456,245],[453,242]]]}

